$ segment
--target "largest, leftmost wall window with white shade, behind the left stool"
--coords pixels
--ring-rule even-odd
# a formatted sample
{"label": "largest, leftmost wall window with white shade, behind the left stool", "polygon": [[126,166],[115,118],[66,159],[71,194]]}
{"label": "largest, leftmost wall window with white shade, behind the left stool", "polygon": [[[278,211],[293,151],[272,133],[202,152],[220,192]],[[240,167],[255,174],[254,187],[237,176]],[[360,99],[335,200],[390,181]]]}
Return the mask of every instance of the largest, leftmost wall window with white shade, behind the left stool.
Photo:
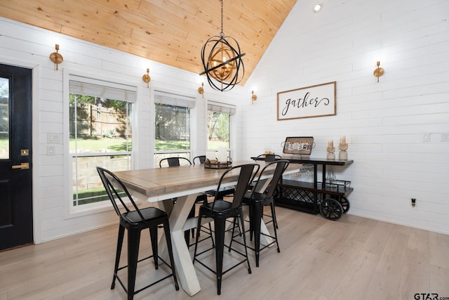
{"label": "largest, leftmost wall window with white shade, behind the left stool", "polygon": [[96,167],[131,169],[134,100],[133,86],[70,76],[73,207],[108,200]]}

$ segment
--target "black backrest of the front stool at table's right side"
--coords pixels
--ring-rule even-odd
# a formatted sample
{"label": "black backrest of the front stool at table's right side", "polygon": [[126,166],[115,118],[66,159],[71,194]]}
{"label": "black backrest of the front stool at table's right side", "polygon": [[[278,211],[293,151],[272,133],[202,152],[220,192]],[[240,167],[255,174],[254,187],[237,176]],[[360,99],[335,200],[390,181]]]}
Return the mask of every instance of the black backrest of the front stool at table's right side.
{"label": "black backrest of the front stool at table's right side", "polygon": [[[237,208],[241,206],[243,201],[243,195],[245,195],[247,191],[248,184],[250,183],[251,178],[253,178],[253,173],[257,173],[260,169],[258,164],[241,164],[239,166],[231,167],[222,174],[220,181],[218,182],[217,190],[220,190],[221,185],[226,183],[231,175],[230,173],[239,172],[239,178],[237,179],[237,184],[234,186],[234,199],[232,200],[231,208]],[[213,200],[212,209],[215,206],[215,203],[218,201],[223,201],[218,199],[218,193],[215,193],[215,198]]]}

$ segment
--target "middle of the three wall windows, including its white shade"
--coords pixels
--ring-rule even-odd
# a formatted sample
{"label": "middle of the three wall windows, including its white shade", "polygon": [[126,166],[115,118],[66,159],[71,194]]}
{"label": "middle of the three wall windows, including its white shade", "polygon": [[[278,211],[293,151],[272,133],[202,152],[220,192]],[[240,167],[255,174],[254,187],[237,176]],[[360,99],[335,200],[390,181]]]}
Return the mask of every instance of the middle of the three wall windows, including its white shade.
{"label": "middle of the three wall windows, including its white shade", "polygon": [[155,167],[164,157],[190,159],[190,108],[194,104],[194,98],[155,91]]}

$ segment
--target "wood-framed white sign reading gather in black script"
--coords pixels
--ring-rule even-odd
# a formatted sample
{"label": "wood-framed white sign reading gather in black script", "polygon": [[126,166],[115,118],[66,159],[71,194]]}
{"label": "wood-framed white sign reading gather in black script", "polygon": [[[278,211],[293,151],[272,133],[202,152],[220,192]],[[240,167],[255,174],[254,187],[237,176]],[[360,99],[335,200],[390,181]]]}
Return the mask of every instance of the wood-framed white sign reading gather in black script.
{"label": "wood-framed white sign reading gather in black script", "polygon": [[278,120],[336,115],[336,81],[278,93]]}

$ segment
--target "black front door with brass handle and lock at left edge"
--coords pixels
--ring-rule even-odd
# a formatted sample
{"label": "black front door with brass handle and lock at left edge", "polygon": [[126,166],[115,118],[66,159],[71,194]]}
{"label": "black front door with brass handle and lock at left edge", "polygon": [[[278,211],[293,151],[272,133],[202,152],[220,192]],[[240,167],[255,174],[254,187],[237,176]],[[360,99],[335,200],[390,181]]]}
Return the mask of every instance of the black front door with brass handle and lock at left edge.
{"label": "black front door with brass handle and lock at left edge", "polygon": [[32,70],[0,64],[0,250],[33,242]]}

